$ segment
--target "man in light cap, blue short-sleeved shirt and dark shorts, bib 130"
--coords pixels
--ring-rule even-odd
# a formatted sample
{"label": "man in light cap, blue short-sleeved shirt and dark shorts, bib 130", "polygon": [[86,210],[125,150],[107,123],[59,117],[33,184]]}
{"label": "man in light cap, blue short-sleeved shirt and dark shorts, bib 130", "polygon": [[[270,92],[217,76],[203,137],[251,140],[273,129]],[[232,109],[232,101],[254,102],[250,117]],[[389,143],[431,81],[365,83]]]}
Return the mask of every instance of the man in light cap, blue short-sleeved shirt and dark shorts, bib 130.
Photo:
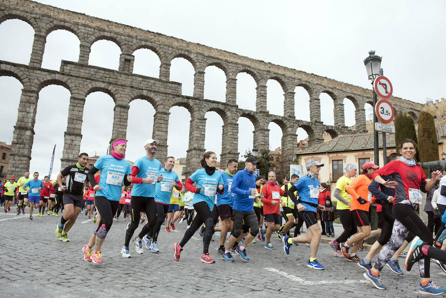
{"label": "man in light cap, blue short-sleeved shirt and dark shorts, bib 130", "polygon": [[[310,243],[310,260],[307,263],[307,267],[317,270],[325,269],[318,260],[316,254],[319,248],[319,242],[321,241],[321,229],[318,225],[317,210],[325,211],[325,207],[319,205],[319,180],[318,174],[321,164],[316,159],[309,159],[305,163],[307,168],[307,174],[297,180],[296,183],[288,190],[288,196],[293,200],[294,204],[299,210],[299,220],[302,218],[305,220],[307,226],[307,234],[290,238],[288,236],[283,237],[283,250],[285,254],[289,254],[289,248],[293,243]],[[300,199],[297,200],[294,192],[297,191],[300,195]]]}

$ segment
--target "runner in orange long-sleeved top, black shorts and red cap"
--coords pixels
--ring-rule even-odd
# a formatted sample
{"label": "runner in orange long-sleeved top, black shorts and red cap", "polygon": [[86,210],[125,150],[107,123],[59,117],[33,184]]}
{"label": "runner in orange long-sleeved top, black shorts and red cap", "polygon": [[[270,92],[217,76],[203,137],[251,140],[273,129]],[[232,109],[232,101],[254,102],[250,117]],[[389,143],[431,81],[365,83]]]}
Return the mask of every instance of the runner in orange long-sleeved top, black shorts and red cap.
{"label": "runner in orange long-sleeved top, black shorts and red cap", "polygon": [[[353,222],[356,225],[357,232],[346,242],[339,243],[342,254],[349,261],[359,262],[361,259],[356,255],[362,241],[370,235],[371,227],[369,222],[369,208],[372,195],[369,192],[369,184],[372,182],[372,174],[379,167],[374,163],[368,162],[362,166],[362,174],[357,176],[345,190],[352,197],[350,212],[353,213]],[[350,246],[353,246],[350,250]]]}

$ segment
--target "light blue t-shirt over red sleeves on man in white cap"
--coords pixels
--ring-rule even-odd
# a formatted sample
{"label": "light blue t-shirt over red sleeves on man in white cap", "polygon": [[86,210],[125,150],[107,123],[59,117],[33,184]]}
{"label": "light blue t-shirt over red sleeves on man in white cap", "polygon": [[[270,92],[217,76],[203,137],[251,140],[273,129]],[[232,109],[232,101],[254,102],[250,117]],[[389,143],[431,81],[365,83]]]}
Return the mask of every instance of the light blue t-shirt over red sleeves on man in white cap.
{"label": "light blue t-shirt over red sleeves on man in white cap", "polygon": [[156,193],[156,187],[158,183],[159,171],[162,169],[161,163],[156,158],[151,161],[147,157],[143,156],[138,158],[133,164],[133,167],[138,167],[139,172],[136,174],[138,178],[151,178],[155,180],[154,184],[133,184],[132,196],[154,198]]}

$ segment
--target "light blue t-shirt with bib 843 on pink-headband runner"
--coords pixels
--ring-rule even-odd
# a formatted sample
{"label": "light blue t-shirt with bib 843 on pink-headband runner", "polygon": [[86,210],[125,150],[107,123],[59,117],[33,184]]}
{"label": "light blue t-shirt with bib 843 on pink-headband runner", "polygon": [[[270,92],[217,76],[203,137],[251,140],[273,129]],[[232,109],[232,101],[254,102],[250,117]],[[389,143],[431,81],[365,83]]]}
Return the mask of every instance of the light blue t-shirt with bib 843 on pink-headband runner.
{"label": "light blue t-shirt with bib 843 on pink-headband runner", "polygon": [[96,161],[94,167],[101,170],[99,186],[103,188],[97,191],[95,196],[106,197],[110,201],[119,201],[124,176],[131,174],[129,162],[125,159],[115,159],[111,155],[104,155]]}

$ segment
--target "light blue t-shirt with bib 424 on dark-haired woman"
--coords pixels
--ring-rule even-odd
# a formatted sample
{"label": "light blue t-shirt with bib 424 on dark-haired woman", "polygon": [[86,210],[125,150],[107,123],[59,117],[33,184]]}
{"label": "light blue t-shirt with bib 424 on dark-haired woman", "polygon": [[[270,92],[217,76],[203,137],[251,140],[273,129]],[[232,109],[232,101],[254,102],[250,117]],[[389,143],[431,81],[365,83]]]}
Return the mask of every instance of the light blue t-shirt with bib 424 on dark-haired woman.
{"label": "light blue t-shirt with bib 424 on dark-haired woman", "polygon": [[215,195],[217,194],[217,187],[220,183],[223,184],[222,175],[216,170],[212,175],[208,175],[204,168],[196,170],[190,177],[192,181],[197,182],[197,188],[201,188],[199,194],[194,195],[192,204],[198,202],[206,202],[209,206],[209,210],[214,209]]}

